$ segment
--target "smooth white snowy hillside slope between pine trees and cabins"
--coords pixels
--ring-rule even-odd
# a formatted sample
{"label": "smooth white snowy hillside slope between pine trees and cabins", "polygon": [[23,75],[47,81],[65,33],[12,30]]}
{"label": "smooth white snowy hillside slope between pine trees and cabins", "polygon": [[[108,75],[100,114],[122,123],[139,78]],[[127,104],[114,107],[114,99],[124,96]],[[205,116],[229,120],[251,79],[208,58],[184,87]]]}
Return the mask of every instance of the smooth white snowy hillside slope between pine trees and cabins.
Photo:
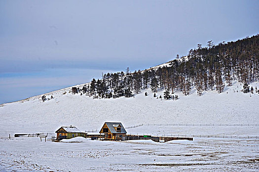
{"label": "smooth white snowy hillside slope between pine trees and cabins", "polygon": [[[251,86],[259,87],[259,83]],[[179,95],[178,100],[153,97],[150,89],[135,97],[115,99],[93,99],[69,92],[64,94],[69,89],[49,93],[54,98],[45,102],[36,96],[27,101],[1,105],[0,135],[53,133],[60,126],[71,124],[82,131],[99,130],[105,121],[120,121],[125,126],[142,123],[259,123],[259,94],[243,93],[242,86],[237,82],[226,86],[221,94],[214,90],[198,96],[193,88],[190,95],[185,96],[178,91],[175,93]],[[145,96],[146,91],[148,96]],[[163,96],[163,90],[157,92],[159,95]]]}

